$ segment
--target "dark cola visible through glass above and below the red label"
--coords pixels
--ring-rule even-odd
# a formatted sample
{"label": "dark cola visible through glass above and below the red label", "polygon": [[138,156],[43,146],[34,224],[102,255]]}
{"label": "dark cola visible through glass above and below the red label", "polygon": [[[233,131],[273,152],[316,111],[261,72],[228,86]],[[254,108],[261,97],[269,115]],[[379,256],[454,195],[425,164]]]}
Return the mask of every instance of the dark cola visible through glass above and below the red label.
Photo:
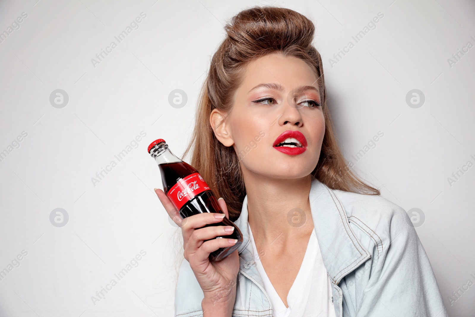
{"label": "dark cola visible through glass above and below the red label", "polygon": [[[163,191],[168,193],[168,191],[173,187],[180,178],[185,178],[186,176],[198,173],[190,164],[185,162],[177,163],[163,163],[158,165],[160,168],[161,181],[163,183]],[[224,213],[224,211],[219,206],[218,200],[212,191],[204,191],[195,196],[192,200],[185,203],[183,207],[180,208],[181,218],[190,217],[203,212],[219,212]],[[237,239],[235,245],[228,248],[220,248],[209,254],[209,258],[212,260],[220,260],[226,258],[229,254],[233,253],[242,243],[242,233],[228,218],[224,217],[223,221],[217,223],[211,223],[204,227],[209,226],[233,226],[234,231],[228,236],[218,236],[219,238],[226,239]],[[204,228],[203,227],[203,228]]]}

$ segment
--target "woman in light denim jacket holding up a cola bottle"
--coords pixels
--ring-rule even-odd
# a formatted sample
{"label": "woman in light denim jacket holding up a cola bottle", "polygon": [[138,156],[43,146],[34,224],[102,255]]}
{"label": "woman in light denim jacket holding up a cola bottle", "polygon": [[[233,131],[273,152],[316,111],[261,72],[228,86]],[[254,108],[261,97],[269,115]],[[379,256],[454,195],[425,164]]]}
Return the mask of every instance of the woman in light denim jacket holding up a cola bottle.
{"label": "woman in light denim jacket holding up a cola bottle", "polygon": [[186,153],[244,241],[209,261],[228,228],[155,191],[183,236],[176,316],[447,316],[406,212],[346,166],[313,23],[256,7],[225,29]]}

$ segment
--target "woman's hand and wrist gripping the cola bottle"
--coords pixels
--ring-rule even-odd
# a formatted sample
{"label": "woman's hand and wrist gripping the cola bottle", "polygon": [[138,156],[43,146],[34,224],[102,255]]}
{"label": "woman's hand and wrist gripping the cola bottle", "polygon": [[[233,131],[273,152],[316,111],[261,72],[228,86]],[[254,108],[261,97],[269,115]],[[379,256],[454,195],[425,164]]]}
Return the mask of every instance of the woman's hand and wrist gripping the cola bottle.
{"label": "woman's hand and wrist gripping the cola bottle", "polygon": [[[201,302],[203,316],[231,316],[236,299],[236,279],[239,271],[239,256],[237,250],[220,261],[210,261],[209,254],[219,248],[226,248],[236,243],[234,239],[213,239],[229,235],[231,226],[209,226],[210,223],[221,222],[228,217],[228,208],[223,199],[218,203],[222,213],[205,212],[181,219],[179,212],[161,189],[155,189],[160,202],[170,218],[181,228],[183,236],[183,255],[190,262],[190,267],[203,290]],[[200,228],[200,229],[199,229]],[[231,228],[231,231],[226,229]],[[211,240],[210,240],[211,239]],[[204,242],[205,240],[208,240]],[[206,310],[206,313],[205,313]]]}

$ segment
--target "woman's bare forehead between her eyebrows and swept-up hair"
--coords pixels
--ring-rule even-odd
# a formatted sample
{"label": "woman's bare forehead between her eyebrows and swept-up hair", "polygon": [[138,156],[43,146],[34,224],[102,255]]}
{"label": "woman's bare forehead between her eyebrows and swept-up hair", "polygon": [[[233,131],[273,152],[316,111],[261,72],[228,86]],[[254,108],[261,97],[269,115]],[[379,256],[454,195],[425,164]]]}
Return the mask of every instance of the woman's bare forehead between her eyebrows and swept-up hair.
{"label": "woman's bare forehead between her eyebrows and swept-up hair", "polygon": [[242,87],[252,88],[262,83],[278,82],[285,88],[293,86],[318,86],[317,76],[304,60],[282,53],[272,53],[247,64]]}

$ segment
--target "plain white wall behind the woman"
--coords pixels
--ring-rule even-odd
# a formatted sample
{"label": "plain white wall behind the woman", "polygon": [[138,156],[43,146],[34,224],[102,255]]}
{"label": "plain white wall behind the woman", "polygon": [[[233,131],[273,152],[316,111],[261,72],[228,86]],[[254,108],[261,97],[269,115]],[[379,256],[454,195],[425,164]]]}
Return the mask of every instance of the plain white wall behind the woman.
{"label": "plain white wall behind the woman", "polygon": [[[1,1],[0,32],[28,14],[0,43],[0,151],[22,131],[20,147],[0,163],[0,316],[173,316],[174,232],[152,192],[161,187],[148,144],[164,138],[181,155],[190,139],[200,86],[239,10],[273,1]],[[355,170],[406,211],[425,214],[417,228],[450,316],[475,316],[475,285],[452,306],[448,296],[475,275],[475,45],[469,0],[276,1],[316,25],[336,134],[348,160],[382,131]],[[101,49],[133,30],[93,66]],[[338,53],[382,12],[384,17],[337,64]],[[354,42],[354,41],[353,41]],[[68,104],[49,96],[63,89]],[[182,89],[187,104],[168,96]],[[419,89],[422,107],[406,103]],[[158,120],[157,120],[158,119]],[[143,131],[125,158],[118,154]],[[10,148],[11,149],[11,148]],[[117,163],[99,183],[92,177]],[[353,163],[355,163],[353,161]],[[66,226],[49,221],[55,208]],[[411,215],[412,216],[412,215]],[[157,239],[158,238],[158,239]],[[139,265],[104,299],[91,299],[144,250]]]}

